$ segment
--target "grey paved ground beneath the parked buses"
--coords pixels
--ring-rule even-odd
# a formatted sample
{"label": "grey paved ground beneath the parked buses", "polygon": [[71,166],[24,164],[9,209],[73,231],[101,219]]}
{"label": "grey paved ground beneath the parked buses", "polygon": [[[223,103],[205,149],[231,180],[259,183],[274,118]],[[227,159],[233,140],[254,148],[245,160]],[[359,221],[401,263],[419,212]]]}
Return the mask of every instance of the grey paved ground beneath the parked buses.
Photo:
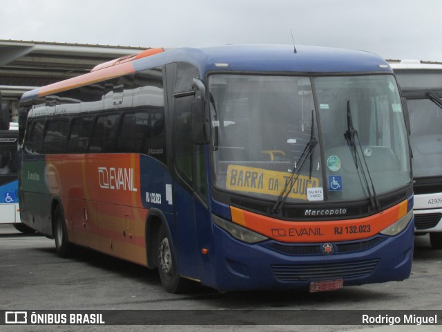
{"label": "grey paved ground beneath the parked buses", "polygon": [[[202,310],[269,309],[300,312],[334,310],[441,311],[442,250],[432,250],[427,237],[416,237],[410,279],[356,287],[331,293],[235,292],[199,289],[190,294],[163,291],[155,271],[90,250],[73,259],[55,255],[54,242],[24,235],[0,225],[0,310]],[[166,311],[167,310],[167,311]],[[171,317],[173,319],[173,317]],[[323,317],[313,317],[320,322]],[[442,319],[442,318],[441,318]],[[0,331],[125,331],[129,326],[0,326]],[[442,331],[440,326],[131,326],[131,331]]]}

